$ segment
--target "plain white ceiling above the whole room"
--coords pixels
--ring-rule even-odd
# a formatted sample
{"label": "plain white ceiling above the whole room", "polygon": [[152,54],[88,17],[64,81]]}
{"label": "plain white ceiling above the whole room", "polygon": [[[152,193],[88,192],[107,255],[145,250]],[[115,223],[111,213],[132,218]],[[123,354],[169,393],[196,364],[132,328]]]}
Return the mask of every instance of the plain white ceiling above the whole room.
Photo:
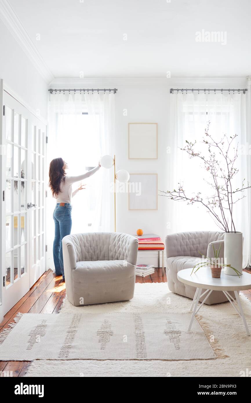
{"label": "plain white ceiling above the whole room", "polygon": [[[55,78],[251,75],[250,0],[9,2]],[[226,46],[195,42],[202,29]]]}

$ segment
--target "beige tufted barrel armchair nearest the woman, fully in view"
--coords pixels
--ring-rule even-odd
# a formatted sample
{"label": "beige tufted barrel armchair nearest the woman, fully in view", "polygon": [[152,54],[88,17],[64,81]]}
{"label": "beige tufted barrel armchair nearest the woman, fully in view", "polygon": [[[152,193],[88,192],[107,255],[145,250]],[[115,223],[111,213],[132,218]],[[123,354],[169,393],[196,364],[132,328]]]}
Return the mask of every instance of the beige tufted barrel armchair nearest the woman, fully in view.
{"label": "beige tufted barrel armchair nearest the woman, fully in view", "polygon": [[62,239],[66,295],[75,306],[133,298],[138,240],[123,233]]}

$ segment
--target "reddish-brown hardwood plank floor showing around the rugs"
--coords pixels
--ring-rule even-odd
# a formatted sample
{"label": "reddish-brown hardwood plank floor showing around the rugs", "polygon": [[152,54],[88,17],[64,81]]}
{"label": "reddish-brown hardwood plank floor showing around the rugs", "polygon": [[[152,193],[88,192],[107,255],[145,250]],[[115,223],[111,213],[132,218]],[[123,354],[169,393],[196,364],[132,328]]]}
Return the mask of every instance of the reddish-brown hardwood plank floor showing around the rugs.
{"label": "reddish-brown hardwood plank floor showing around the rugs", "polygon": [[[154,273],[145,278],[136,276],[136,283],[165,283],[166,271],[161,275],[161,269],[155,269]],[[251,273],[251,270],[245,270]],[[242,291],[251,301],[251,290]],[[31,287],[29,292],[4,316],[0,323],[0,332],[14,322],[18,312],[57,314],[65,296],[65,284],[62,276],[55,276],[51,270],[47,270]],[[24,376],[29,361],[0,361],[1,371],[12,371],[12,376]],[[1,375],[0,375],[1,376]],[[2,374],[3,376],[3,374]]]}

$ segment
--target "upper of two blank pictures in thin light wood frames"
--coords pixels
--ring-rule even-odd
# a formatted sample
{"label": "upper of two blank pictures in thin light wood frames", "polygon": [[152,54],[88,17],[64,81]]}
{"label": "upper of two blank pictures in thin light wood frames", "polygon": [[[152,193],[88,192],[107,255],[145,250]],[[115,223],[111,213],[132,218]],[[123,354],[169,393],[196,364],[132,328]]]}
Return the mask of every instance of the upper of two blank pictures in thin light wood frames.
{"label": "upper of two blank pictures in thin light wood frames", "polygon": [[158,159],[158,123],[128,123],[128,158]]}

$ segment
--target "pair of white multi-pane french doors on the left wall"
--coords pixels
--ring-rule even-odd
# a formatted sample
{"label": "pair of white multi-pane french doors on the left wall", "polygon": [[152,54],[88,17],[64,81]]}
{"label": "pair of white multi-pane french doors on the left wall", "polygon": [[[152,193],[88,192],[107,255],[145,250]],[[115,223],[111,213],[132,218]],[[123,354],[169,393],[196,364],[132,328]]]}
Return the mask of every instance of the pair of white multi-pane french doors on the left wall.
{"label": "pair of white multi-pane french doors on the left wall", "polygon": [[46,126],[3,91],[3,314],[45,271]]}

